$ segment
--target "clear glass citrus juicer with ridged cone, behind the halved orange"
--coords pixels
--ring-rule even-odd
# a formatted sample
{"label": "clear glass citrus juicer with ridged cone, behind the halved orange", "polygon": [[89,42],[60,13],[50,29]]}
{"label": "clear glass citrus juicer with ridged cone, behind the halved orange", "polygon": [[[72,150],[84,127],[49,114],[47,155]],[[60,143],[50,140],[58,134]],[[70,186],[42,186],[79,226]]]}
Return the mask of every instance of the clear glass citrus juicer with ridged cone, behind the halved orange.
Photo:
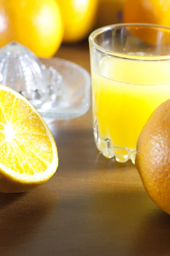
{"label": "clear glass citrus juicer with ridged cone, behind the halved orange", "polygon": [[39,59],[17,42],[0,49],[0,84],[25,96],[48,123],[82,116],[90,107],[85,69],[60,58]]}

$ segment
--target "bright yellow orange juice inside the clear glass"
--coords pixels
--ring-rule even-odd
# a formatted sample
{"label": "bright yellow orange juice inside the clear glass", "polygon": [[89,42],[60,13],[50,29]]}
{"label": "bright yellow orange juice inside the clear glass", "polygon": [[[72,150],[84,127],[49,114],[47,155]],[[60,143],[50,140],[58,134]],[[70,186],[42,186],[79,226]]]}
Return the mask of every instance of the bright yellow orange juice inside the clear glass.
{"label": "bright yellow orange juice inside the clear glass", "polygon": [[92,67],[92,90],[100,138],[136,149],[150,114],[170,98],[170,61],[105,57]]}

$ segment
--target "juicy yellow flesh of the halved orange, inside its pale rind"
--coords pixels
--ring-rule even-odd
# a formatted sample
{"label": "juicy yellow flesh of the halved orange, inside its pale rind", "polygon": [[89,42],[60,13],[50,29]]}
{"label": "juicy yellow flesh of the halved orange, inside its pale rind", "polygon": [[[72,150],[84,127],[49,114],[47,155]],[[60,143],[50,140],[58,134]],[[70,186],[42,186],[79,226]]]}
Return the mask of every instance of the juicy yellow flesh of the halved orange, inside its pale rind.
{"label": "juicy yellow flesh of the halved orange, inside its pale rind", "polygon": [[45,171],[52,158],[51,141],[40,117],[24,100],[0,90],[0,163],[32,175]]}

